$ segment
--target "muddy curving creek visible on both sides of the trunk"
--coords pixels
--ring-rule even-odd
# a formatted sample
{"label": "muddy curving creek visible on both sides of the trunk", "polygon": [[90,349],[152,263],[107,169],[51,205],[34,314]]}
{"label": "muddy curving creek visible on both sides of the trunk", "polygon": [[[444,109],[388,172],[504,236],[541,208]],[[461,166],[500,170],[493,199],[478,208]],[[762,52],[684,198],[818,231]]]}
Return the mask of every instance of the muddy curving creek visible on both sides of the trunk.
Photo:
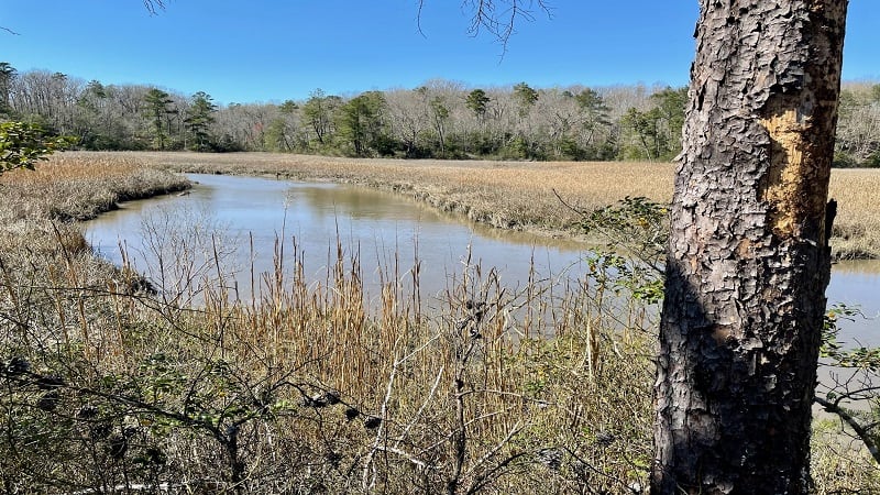
{"label": "muddy curving creek visible on both sides of the trunk", "polygon": [[[233,298],[244,300],[261,297],[260,274],[273,272],[278,254],[285,271],[296,256],[309,280],[327,280],[338,245],[346,261],[359,258],[372,298],[391,277],[411,290],[416,261],[420,294],[429,302],[455,283],[469,261],[495,267],[512,289],[525,287],[530,277],[576,277],[584,270],[583,244],[487,228],[393,193],[255,177],[188,177],[196,183],[188,194],[128,202],[86,222],[87,239],[110,261],[128,261],[154,283],[217,273],[213,260],[219,257],[224,285]],[[184,268],[170,268],[184,258]],[[843,340],[880,345],[878,292],[880,262],[835,265],[828,300],[859,305],[872,318],[843,322]]]}

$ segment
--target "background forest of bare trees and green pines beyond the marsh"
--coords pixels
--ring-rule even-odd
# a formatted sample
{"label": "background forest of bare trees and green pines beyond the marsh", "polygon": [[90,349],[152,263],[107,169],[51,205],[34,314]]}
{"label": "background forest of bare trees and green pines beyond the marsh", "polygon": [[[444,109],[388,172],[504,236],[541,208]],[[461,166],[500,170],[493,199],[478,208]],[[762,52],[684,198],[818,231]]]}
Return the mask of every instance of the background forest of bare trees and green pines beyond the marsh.
{"label": "background forest of bare trees and green pines beyond the marsh", "polygon": [[[0,119],[81,150],[266,151],[363,157],[668,162],[681,151],[685,87],[415,89],[218,105],[148,85],[103,85],[0,63]],[[880,166],[880,84],[845,84],[835,165]]]}

